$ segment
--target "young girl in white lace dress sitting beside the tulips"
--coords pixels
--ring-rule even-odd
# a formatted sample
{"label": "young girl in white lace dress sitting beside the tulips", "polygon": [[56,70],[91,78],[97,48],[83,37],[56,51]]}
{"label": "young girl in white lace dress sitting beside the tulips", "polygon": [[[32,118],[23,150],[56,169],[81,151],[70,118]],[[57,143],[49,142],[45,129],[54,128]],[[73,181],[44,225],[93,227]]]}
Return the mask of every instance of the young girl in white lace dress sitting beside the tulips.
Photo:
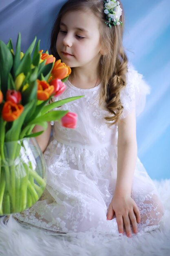
{"label": "young girl in white lace dress sitting beside the tulips", "polygon": [[37,138],[46,149],[47,186],[33,207],[14,214],[18,220],[60,233],[128,237],[159,227],[163,206],[137,157],[135,116],[148,87],[128,63],[123,29],[115,0],[68,0],[60,10],[50,49],[72,73],[57,100],[85,97],[60,108],[77,113],[75,129],[54,122],[50,143],[51,124]]}

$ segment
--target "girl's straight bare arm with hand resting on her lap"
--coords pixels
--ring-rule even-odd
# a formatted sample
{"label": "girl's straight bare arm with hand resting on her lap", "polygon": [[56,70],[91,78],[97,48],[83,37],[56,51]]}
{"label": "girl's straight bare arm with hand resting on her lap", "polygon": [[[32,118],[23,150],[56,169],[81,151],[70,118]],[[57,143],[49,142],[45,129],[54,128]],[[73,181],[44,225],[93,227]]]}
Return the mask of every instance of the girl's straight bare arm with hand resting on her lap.
{"label": "girl's straight bare arm with hand resting on her lap", "polygon": [[134,233],[137,233],[137,222],[140,222],[139,209],[131,198],[132,179],[137,159],[135,110],[118,123],[117,148],[117,181],[107,219],[111,220],[115,213],[119,233],[124,233],[124,224],[126,234],[130,237],[130,221]]}

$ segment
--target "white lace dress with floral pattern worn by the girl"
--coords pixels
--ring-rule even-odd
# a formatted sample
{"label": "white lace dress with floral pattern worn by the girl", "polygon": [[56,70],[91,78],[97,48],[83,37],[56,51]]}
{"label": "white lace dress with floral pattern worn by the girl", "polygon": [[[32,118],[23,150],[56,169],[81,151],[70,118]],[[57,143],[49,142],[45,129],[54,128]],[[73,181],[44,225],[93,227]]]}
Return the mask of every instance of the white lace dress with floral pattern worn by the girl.
{"label": "white lace dress with floral pattern worn by the girl", "polygon": [[[119,235],[116,219],[106,220],[117,177],[117,125],[108,127],[109,113],[99,106],[101,85],[79,89],[69,81],[58,99],[85,95],[60,109],[78,115],[77,128],[63,128],[54,122],[53,136],[44,152],[48,167],[43,196],[31,208],[13,214],[21,222],[59,233],[89,231],[93,234]],[[149,88],[142,75],[128,65],[127,85],[121,91],[124,112],[143,110]],[[132,198],[141,213],[139,232],[159,227],[163,212],[155,186],[137,158]]]}

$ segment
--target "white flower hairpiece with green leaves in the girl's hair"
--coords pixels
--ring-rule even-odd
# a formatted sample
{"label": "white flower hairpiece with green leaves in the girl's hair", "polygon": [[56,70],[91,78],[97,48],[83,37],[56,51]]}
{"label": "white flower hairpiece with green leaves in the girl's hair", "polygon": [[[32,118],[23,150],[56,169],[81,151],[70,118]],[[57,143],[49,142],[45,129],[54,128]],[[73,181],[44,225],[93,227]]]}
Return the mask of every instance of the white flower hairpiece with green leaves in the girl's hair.
{"label": "white flower hairpiece with green leaves in the girl's hair", "polygon": [[123,23],[119,20],[122,13],[119,1],[107,0],[104,1],[104,3],[104,13],[107,15],[108,19],[108,22],[105,22],[106,25],[108,25],[110,28],[111,25],[123,25]]}

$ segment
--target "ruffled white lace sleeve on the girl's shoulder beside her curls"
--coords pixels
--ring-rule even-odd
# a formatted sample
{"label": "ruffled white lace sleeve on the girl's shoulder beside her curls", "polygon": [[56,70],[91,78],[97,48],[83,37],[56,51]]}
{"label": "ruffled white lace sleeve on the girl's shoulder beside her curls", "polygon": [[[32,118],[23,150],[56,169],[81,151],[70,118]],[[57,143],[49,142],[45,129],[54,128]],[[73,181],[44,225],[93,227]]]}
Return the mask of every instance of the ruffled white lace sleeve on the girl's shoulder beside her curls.
{"label": "ruffled white lace sleeve on the girl's shoulder beside her curls", "polygon": [[124,107],[121,119],[125,118],[134,109],[136,116],[138,116],[144,110],[146,95],[150,93],[150,87],[144,81],[143,75],[139,74],[130,63],[128,63],[126,81],[126,86],[120,93],[121,103]]}

